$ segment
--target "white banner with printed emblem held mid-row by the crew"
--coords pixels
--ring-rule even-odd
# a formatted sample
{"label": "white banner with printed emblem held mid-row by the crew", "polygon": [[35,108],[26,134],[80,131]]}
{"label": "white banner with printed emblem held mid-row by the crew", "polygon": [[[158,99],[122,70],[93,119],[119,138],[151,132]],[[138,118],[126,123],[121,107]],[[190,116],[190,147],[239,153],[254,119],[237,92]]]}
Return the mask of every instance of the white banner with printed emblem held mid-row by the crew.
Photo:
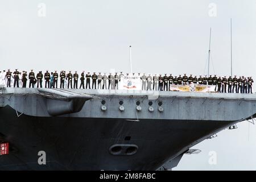
{"label": "white banner with printed emblem held mid-row by the crew", "polygon": [[140,76],[122,76],[118,85],[121,90],[141,90],[142,82]]}

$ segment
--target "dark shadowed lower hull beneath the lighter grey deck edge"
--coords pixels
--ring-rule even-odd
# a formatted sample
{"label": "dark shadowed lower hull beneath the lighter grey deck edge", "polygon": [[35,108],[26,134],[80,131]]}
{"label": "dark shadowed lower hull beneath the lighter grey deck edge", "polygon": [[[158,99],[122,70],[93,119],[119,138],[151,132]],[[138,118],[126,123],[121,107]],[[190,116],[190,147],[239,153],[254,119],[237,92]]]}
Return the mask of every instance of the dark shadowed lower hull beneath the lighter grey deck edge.
{"label": "dark shadowed lower hull beneath the lighter grey deck edge", "polygon": [[[0,115],[1,139],[10,143],[10,154],[0,157],[1,170],[155,170],[233,123],[16,117],[9,106],[0,107]],[[135,155],[112,155],[109,146],[113,144],[135,144],[139,148]],[[38,151],[42,150],[46,151],[46,165],[38,164]]]}

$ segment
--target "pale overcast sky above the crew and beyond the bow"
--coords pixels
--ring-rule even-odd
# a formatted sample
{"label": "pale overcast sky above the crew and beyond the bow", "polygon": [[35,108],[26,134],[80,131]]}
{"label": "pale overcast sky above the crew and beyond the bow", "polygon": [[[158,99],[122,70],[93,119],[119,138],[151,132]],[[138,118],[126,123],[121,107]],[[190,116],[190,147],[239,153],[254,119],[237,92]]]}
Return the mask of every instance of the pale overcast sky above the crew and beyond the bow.
{"label": "pale overcast sky above the crew and beyond the bow", "polygon": [[[128,72],[131,45],[134,72],[203,75],[212,27],[210,73],[229,76],[230,18],[233,75],[255,78],[255,0],[0,0],[0,69]],[[176,169],[255,170],[256,130],[248,140],[247,122],[240,125],[196,146],[201,154]],[[217,165],[208,163],[212,150]]]}

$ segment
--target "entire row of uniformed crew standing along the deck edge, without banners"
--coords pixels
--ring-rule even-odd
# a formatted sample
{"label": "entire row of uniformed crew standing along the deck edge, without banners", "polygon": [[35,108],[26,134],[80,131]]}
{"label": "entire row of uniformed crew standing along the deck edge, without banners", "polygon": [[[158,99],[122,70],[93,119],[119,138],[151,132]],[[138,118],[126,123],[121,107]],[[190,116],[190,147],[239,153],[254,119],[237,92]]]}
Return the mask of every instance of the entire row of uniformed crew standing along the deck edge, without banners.
{"label": "entire row of uniformed crew standing along the deck edge, without banners", "polygon": [[[5,72],[5,71],[4,71]],[[1,73],[1,72],[0,72]],[[5,78],[7,79],[7,87],[10,87],[10,82],[11,82],[11,74],[10,70],[6,72]],[[61,71],[60,74],[55,71],[54,73],[52,72],[51,74],[46,71],[46,73],[42,73],[40,71],[37,73],[35,76],[35,73],[33,70],[31,70],[30,73],[26,71],[21,73],[18,71],[18,69],[15,69],[13,72],[13,78],[14,78],[14,87],[17,86],[19,87],[18,81],[19,81],[19,76],[22,76],[22,87],[26,88],[27,85],[27,80],[29,80],[29,87],[34,88],[36,82],[37,82],[37,87],[42,88],[42,82],[43,78],[45,80],[45,88],[57,88],[57,83],[58,79],[60,77],[60,88],[78,88],[78,81],[79,81],[79,75],[77,72],[74,74],[69,71],[69,73],[66,74],[65,71]],[[28,79],[27,79],[28,76]],[[108,80],[108,89],[118,89],[118,82],[121,80],[121,77],[125,76],[122,74],[122,72],[118,75],[115,73],[115,75],[112,75],[112,73],[109,73],[107,76],[106,73],[104,75],[101,75],[101,73],[98,73],[96,75],[96,72],[93,72],[93,75],[90,75],[90,72],[88,72],[85,75],[85,72],[83,71],[80,76],[80,89],[90,89],[90,80],[92,79],[92,89],[107,89],[107,80]],[[126,74],[126,76],[130,76],[129,73]],[[133,73],[132,76],[135,76],[135,73]],[[142,76],[140,76],[140,73],[138,73],[138,77],[141,78],[142,80],[142,90],[160,90],[160,91],[168,91],[171,90],[171,85],[187,85],[187,84],[202,84],[202,85],[216,85],[216,92],[219,93],[226,93],[227,90],[227,85],[228,85],[228,93],[252,93],[252,84],[253,84],[253,79],[251,77],[244,77],[240,76],[237,78],[234,76],[233,78],[229,76],[229,78],[224,77],[217,77],[214,75],[210,75],[209,77],[205,76],[192,76],[190,75],[189,77],[184,74],[183,77],[179,75],[177,76],[167,76],[167,74],[164,74],[162,76],[161,74],[157,76],[151,76],[150,74],[146,76],[145,73],[143,73]],[[85,81],[86,81],[86,86],[85,86]],[[153,85],[153,86],[152,86]]]}

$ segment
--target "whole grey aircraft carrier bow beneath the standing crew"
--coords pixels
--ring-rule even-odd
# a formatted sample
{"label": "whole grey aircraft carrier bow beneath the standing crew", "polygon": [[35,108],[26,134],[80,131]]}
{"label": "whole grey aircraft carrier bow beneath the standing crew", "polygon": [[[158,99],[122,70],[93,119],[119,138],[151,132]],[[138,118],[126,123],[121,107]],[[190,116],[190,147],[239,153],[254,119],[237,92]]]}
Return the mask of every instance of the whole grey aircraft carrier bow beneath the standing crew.
{"label": "whole grey aircraft carrier bow beneath the standing crew", "polygon": [[0,169],[171,169],[195,144],[253,118],[255,104],[255,94],[1,88],[9,154]]}

